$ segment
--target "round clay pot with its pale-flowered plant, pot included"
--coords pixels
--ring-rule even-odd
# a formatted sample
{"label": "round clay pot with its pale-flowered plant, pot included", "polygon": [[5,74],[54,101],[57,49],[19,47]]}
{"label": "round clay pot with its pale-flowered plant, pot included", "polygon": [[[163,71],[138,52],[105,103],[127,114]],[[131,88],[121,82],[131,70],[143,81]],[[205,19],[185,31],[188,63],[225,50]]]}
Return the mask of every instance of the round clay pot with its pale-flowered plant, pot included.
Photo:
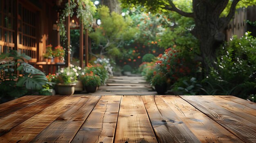
{"label": "round clay pot with its pale-flowered plant, pot included", "polygon": [[78,73],[72,67],[61,68],[58,73],[58,84],[56,84],[60,95],[73,95]]}

